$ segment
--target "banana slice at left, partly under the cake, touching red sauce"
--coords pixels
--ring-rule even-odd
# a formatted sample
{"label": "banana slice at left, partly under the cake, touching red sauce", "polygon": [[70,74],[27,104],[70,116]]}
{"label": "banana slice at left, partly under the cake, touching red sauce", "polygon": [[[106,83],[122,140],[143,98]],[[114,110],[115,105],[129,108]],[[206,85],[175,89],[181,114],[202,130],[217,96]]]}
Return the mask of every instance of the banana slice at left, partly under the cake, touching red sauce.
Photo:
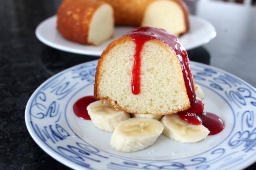
{"label": "banana slice at left, partly under the cake, touching red sauce", "polygon": [[116,126],[123,120],[129,119],[130,114],[115,110],[107,102],[96,101],[87,107],[93,124],[104,131],[113,132]]}

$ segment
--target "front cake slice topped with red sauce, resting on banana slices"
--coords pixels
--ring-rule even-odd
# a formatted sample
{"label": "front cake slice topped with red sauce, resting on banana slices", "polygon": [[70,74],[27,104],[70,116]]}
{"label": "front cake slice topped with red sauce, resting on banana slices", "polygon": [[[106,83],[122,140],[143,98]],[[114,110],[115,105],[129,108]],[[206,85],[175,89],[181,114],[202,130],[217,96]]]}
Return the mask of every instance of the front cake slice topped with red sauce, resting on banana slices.
{"label": "front cake slice topped with red sauce, resting on banana slices", "polygon": [[133,114],[173,114],[196,98],[187,53],[162,29],[140,27],[113,41],[102,53],[94,95]]}

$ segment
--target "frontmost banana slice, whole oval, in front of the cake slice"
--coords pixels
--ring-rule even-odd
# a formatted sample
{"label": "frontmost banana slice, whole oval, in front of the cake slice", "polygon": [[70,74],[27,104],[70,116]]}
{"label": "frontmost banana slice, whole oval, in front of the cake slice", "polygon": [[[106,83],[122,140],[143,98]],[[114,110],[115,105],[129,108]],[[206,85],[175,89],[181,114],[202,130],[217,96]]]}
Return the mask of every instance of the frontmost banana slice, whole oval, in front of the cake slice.
{"label": "frontmost banana slice, whole oval, in front of the cake slice", "polygon": [[121,152],[135,152],[152,145],[163,131],[163,125],[151,118],[130,118],[116,127],[110,145]]}

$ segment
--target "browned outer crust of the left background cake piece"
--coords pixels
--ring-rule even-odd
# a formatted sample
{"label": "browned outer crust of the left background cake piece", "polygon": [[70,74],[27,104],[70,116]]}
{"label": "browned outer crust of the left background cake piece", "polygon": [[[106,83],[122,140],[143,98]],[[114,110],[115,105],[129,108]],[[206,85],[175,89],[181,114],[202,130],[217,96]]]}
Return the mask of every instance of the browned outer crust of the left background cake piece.
{"label": "browned outer crust of the left background cake piece", "polygon": [[64,0],[57,12],[57,29],[68,40],[89,44],[88,33],[94,12],[104,2]]}

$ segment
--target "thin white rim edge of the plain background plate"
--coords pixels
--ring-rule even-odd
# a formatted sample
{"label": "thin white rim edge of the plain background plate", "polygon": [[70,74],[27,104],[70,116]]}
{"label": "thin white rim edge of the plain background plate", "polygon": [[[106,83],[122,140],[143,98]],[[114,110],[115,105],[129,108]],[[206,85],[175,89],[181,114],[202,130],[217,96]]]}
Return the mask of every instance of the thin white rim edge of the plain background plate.
{"label": "thin white rim edge of the plain background plate", "polygon": [[[53,19],[56,19],[57,18],[57,15],[53,15],[53,16],[50,16],[44,20],[42,20],[36,27],[35,29],[35,35],[36,35],[36,38],[44,43],[45,45],[47,46],[50,46],[52,48],[55,48],[57,50],[60,50],[60,51],[64,51],[64,52],[69,52],[69,53],[74,53],[74,54],[80,54],[80,55],[90,55],[90,56],[93,56],[93,57],[99,57],[101,55],[102,52],[97,52],[97,51],[87,51],[87,50],[81,50],[81,49],[74,49],[74,48],[70,48],[70,47],[66,47],[66,46],[62,46],[62,45],[59,45],[59,44],[56,44],[52,41],[49,41],[47,40],[46,38],[44,38],[44,36],[42,36],[39,32],[40,32],[40,29],[42,26],[45,25],[45,23],[47,23],[49,20],[53,20]],[[212,39],[214,39],[217,35],[217,32],[216,32],[216,29],[214,27],[214,25],[212,25],[211,22],[209,22],[208,20],[202,18],[202,17],[199,17],[199,16],[196,16],[196,15],[190,15],[189,14],[189,19],[190,18],[193,18],[193,19],[196,19],[202,23],[204,23],[205,25],[208,26],[208,28],[210,28],[212,30],[212,33],[211,35],[209,35],[208,39],[204,39],[203,41],[201,41],[200,43],[197,43],[196,45],[191,45],[191,46],[188,46],[186,48],[186,50],[192,50],[196,47],[199,47],[199,46],[202,46],[202,45],[205,45],[207,44],[208,42],[210,42]],[[116,29],[116,27],[115,27]],[[65,39],[65,38],[63,38]],[[67,39],[65,39],[66,41],[69,41]],[[77,42],[73,42],[72,43],[74,44],[78,44],[78,45],[81,45]],[[87,45],[87,46],[90,46],[90,45]]]}

